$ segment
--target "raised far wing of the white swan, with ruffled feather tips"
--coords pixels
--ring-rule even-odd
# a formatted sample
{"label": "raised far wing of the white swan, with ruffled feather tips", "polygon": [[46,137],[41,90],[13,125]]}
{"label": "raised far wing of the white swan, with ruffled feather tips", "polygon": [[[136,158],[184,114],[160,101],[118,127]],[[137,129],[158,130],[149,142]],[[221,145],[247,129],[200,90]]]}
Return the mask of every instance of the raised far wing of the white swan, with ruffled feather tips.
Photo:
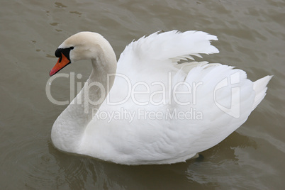
{"label": "raised far wing of the white swan, with ruffled feather tips", "polygon": [[[177,70],[174,63],[200,54],[218,53],[210,40],[218,40],[215,35],[201,31],[180,33],[172,30],[165,33],[153,33],[133,41],[122,52],[118,60],[118,73],[127,74],[131,79],[155,75],[157,70],[167,72]],[[138,76],[137,73],[140,73]]]}

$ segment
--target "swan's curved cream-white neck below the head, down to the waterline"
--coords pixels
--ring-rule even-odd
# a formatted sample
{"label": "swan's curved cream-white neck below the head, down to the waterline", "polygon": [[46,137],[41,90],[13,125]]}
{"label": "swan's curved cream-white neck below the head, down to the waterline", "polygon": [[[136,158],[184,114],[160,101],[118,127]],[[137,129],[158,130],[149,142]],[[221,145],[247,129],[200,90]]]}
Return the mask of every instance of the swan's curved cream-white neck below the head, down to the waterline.
{"label": "swan's curved cream-white neck below the head, down to the waterline", "polygon": [[60,150],[76,152],[92,111],[101,106],[113,86],[113,79],[108,77],[116,73],[116,55],[112,47],[101,50],[99,56],[91,60],[93,69],[84,87],[52,126],[52,143]]}

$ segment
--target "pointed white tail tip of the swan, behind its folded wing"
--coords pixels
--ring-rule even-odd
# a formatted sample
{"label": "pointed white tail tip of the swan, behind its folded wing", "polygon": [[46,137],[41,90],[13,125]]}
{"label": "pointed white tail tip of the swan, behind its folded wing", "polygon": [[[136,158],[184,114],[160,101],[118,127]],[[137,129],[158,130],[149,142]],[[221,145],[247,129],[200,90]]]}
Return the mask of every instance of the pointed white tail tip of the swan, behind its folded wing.
{"label": "pointed white tail tip of the swan, behind its folded wing", "polygon": [[257,105],[264,99],[267,91],[267,84],[272,79],[273,76],[266,76],[262,79],[258,79],[256,82],[253,83],[253,89],[255,90],[255,102],[252,105],[252,110],[254,110]]}

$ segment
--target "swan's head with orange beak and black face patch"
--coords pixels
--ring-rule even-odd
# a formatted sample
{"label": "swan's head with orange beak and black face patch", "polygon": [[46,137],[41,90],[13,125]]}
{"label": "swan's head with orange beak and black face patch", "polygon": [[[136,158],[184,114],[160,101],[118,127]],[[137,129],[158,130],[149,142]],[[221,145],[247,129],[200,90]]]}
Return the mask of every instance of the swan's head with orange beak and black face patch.
{"label": "swan's head with orange beak and black face patch", "polygon": [[74,34],[57,47],[55,56],[59,59],[50,71],[50,76],[59,72],[69,63],[78,60],[94,60],[103,54],[105,55],[106,52],[113,52],[113,48],[99,33],[80,32]]}

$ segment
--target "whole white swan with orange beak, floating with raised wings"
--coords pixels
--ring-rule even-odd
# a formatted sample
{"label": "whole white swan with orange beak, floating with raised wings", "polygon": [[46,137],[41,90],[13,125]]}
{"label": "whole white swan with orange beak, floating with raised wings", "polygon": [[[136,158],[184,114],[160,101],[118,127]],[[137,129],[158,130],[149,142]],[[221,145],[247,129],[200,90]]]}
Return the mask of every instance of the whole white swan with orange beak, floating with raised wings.
{"label": "whole white swan with orange beak, floating with raised wings", "polygon": [[53,145],[120,164],[172,164],[220,143],[264,99],[272,76],[251,82],[227,65],[177,63],[217,53],[210,40],[199,31],[153,33],[125,47],[117,65],[98,33],[67,38],[50,76],[77,60],[93,69],[52,126]]}

